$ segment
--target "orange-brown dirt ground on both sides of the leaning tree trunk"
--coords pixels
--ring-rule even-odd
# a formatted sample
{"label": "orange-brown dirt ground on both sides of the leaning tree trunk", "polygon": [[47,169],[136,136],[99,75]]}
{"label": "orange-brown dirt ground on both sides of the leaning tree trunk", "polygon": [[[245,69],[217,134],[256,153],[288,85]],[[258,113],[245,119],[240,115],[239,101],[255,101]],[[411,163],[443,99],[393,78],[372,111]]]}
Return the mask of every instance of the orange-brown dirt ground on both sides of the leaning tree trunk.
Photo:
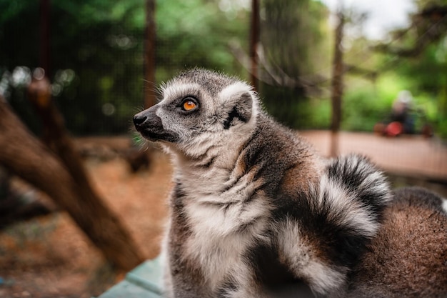
{"label": "orange-brown dirt ground on both sides of the leaning tree trunk", "polygon": [[[119,214],[145,256],[159,254],[171,189],[169,158],[156,151],[149,170],[136,174],[119,157],[106,162],[88,159],[86,167],[97,191]],[[122,277],[113,273],[65,212],[0,230],[2,298],[89,298]]]}

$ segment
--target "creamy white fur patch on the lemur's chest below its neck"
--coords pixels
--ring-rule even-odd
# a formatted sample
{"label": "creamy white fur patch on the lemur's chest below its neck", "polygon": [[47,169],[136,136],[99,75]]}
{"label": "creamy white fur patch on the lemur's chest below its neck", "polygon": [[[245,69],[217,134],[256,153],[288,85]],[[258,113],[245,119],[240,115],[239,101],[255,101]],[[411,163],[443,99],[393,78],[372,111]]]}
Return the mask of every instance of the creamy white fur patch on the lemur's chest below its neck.
{"label": "creamy white fur patch on the lemur's chest below its neck", "polygon": [[185,244],[185,257],[200,264],[213,290],[230,275],[242,282],[248,276],[246,266],[241,266],[243,255],[250,247],[269,242],[264,232],[268,228],[270,208],[263,194],[254,192],[257,183],[247,179],[242,177],[231,182],[232,187],[219,194],[201,191],[210,187],[222,189],[228,181],[219,185],[202,182],[211,184],[186,190],[184,211],[191,237]]}

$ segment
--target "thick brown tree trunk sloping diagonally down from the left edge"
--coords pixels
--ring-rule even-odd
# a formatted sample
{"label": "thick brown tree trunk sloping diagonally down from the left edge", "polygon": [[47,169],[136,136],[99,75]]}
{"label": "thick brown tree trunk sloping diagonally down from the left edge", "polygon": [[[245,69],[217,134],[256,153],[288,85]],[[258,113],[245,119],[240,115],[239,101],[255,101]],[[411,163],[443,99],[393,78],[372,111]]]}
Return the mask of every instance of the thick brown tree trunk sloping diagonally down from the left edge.
{"label": "thick brown tree trunk sloping diagonally down from the left edge", "polygon": [[[116,267],[127,271],[144,261],[116,214],[93,189],[86,187],[88,179],[81,164],[76,174],[70,173],[53,152],[29,133],[1,97],[0,131],[0,164],[54,199]],[[61,159],[78,163],[76,154],[70,159],[69,152],[74,149],[69,139],[61,136],[59,141],[59,152],[65,152]]]}

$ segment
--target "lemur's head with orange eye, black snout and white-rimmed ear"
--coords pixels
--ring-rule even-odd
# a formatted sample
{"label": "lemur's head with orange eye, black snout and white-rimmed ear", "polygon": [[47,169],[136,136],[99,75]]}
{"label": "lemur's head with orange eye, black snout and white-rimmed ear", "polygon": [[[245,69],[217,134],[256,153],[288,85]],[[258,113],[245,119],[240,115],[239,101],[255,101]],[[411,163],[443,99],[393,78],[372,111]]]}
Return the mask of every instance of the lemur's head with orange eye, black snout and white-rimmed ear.
{"label": "lemur's head with orange eye, black snout and white-rimmed ear", "polygon": [[181,73],[161,87],[163,99],[134,116],[136,130],[185,154],[196,146],[249,136],[258,99],[251,86],[205,69]]}

